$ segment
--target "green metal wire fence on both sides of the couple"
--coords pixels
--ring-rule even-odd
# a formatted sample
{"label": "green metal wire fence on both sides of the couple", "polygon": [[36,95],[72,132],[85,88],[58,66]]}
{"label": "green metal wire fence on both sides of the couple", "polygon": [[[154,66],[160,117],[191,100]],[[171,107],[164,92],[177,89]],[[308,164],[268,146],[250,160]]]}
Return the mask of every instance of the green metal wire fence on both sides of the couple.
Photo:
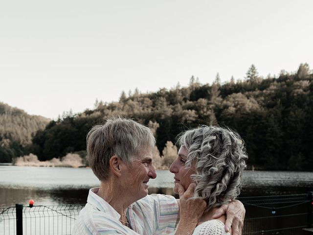
{"label": "green metal wire fence on both sides of the couple", "polygon": [[[313,192],[241,197],[243,235],[301,235],[312,228]],[[83,204],[0,208],[0,235],[69,235]]]}

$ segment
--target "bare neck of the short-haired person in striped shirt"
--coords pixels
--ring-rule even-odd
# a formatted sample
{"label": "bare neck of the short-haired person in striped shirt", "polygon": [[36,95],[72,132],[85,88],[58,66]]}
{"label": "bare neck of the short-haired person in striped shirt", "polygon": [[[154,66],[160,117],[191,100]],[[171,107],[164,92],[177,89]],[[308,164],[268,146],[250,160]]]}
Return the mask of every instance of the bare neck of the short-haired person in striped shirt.
{"label": "bare neck of the short-haired person in striped shirt", "polygon": [[121,215],[120,220],[126,221],[127,207],[134,202],[129,200],[127,193],[122,190],[118,181],[109,179],[108,181],[101,181],[100,188],[97,195],[103,198],[110,206]]}

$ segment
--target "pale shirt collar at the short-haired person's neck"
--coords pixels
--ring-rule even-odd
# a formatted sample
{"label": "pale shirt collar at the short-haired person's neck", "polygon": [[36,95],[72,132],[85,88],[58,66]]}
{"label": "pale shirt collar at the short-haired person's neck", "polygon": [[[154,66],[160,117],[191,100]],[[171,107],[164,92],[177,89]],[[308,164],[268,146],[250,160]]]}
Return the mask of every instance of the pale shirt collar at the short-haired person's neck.
{"label": "pale shirt collar at the short-haired person's neck", "polygon": [[97,195],[98,191],[99,187],[90,188],[87,202],[92,206],[96,207],[99,211],[108,213],[118,220],[121,217],[121,215],[117,211],[115,211],[114,208],[112,208],[112,206],[109,203],[107,203],[102,197],[99,197]]}

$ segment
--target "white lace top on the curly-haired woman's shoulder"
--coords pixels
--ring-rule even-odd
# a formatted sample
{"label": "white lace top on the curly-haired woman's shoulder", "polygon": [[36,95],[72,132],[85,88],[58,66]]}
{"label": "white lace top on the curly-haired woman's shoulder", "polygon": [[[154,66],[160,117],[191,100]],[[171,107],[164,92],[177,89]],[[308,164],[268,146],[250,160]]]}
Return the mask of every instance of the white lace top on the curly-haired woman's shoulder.
{"label": "white lace top on the curly-haired woman's shoulder", "polygon": [[212,219],[198,225],[192,235],[230,235],[230,233],[226,233],[225,225],[222,221]]}

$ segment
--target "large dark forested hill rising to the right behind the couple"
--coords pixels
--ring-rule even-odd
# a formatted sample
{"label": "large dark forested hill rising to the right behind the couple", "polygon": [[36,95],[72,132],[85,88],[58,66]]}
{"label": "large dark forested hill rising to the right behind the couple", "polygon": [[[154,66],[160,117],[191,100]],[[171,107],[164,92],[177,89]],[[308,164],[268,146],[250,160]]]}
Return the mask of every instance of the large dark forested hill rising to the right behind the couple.
{"label": "large dark forested hill rising to the right behind the couple", "polygon": [[[308,64],[301,64],[296,72],[281,71],[267,78],[260,77],[252,65],[245,79],[232,77],[224,84],[220,80],[217,74],[213,84],[200,84],[191,77],[188,87],[177,85],[148,94],[137,89],[128,95],[123,92],[118,102],[97,101],[94,110],[52,120],[45,129],[39,128],[31,144],[18,143],[24,154],[36,154],[40,161],[82,154],[89,129],[104,122],[103,118],[118,115],[149,126],[162,153],[181,131],[219,124],[243,137],[250,167],[313,170],[313,73]],[[6,161],[1,156],[0,161]]]}

